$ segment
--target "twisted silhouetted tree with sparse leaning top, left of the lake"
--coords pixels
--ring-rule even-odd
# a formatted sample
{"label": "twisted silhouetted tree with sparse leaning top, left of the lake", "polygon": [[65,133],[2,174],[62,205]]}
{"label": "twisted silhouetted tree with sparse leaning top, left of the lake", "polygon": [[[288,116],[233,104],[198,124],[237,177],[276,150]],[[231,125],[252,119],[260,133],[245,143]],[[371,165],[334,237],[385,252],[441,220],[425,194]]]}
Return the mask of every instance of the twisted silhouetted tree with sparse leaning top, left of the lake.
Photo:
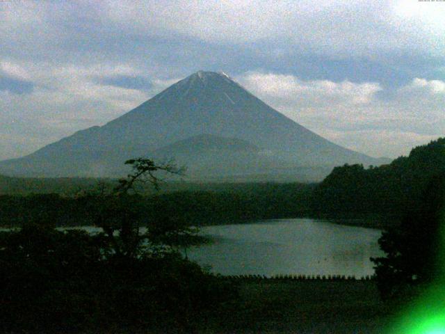
{"label": "twisted silhouetted tree with sparse leaning top, left of the lake", "polygon": [[[184,224],[169,224],[165,221],[153,221],[145,211],[145,201],[138,195],[138,186],[140,184],[151,184],[155,189],[159,189],[159,183],[163,181],[157,173],[168,175],[183,175],[185,168],[178,168],[172,162],[165,164],[156,164],[151,159],[139,157],[125,161],[125,164],[131,165],[132,173],[119,180],[118,186],[111,193],[102,193],[99,195],[99,208],[95,212],[95,224],[101,227],[115,254],[122,257],[135,257],[140,255],[141,251],[147,252],[147,249],[155,248],[140,247],[159,246],[159,240],[163,240],[168,245],[170,234],[192,234],[195,230],[186,228]],[[141,234],[140,227],[144,226],[147,232]],[[166,227],[169,227],[167,229]],[[163,235],[159,233],[163,232]],[[156,248],[157,249],[157,248]]]}

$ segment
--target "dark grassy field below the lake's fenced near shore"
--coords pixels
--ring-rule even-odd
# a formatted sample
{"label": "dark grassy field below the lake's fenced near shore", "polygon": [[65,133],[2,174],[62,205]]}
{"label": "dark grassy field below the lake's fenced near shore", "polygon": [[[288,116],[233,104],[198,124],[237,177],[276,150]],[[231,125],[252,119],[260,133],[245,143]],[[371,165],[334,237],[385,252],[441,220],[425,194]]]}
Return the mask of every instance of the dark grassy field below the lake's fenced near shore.
{"label": "dark grassy field below the lake's fenced near shore", "polygon": [[240,282],[241,301],[213,310],[195,333],[387,333],[396,312],[373,281]]}

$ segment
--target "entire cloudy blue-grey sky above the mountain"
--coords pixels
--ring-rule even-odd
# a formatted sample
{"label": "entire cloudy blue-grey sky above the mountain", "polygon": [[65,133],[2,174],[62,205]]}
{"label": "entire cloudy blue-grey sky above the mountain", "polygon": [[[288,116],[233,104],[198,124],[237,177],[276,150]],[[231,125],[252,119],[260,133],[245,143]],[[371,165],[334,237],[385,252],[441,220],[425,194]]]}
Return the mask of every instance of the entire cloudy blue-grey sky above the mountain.
{"label": "entire cloudy blue-grey sky above the mountain", "polygon": [[445,1],[0,1],[0,159],[224,71],[335,143],[445,135]]}

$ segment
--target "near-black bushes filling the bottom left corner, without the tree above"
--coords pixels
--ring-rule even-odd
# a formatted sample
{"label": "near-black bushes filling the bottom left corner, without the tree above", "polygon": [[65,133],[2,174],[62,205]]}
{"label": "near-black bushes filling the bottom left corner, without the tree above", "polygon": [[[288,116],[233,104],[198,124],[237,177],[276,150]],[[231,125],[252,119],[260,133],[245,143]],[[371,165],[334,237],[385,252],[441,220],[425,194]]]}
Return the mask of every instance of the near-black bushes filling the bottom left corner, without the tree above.
{"label": "near-black bushes filling the bottom left corner, without the tree above", "polygon": [[0,285],[1,333],[191,333],[235,293],[162,247],[122,255],[105,234],[37,225],[1,234]]}

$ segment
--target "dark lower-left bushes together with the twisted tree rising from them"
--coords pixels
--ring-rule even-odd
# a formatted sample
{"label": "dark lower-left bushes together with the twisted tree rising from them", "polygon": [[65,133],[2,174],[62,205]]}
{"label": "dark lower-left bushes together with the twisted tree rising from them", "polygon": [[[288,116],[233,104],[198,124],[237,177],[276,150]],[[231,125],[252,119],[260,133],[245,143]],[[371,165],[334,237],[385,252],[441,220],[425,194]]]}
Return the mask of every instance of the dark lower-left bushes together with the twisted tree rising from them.
{"label": "dark lower-left bushes together with the twisted tree rising from them", "polygon": [[74,202],[76,214],[103,232],[56,230],[52,214],[66,200],[60,196],[43,197],[53,211],[29,213],[20,230],[1,232],[2,333],[189,333],[202,312],[234,296],[234,289],[177,252],[177,246],[200,242],[188,238],[195,230],[169,216],[147,221],[141,196],[131,193],[145,173],[158,182],[150,173],[164,167],[175,173],[174,166],[142,158],[129,164],[136,172],[117,189]]}

